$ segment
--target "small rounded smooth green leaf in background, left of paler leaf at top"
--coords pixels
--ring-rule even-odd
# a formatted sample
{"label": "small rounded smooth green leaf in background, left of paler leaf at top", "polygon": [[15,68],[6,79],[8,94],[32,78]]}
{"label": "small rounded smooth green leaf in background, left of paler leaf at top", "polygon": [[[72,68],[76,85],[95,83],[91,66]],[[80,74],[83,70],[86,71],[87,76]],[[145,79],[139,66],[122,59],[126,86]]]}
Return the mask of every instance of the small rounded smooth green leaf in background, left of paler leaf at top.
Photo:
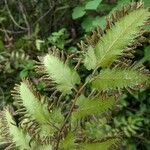
{"label": "small rounded smooth green leaf in background, left of paler leaf at top", "polygon": [[78,6],[73,9],[72,18],[78,19],[85,15],[86,11],[84,10],[84,7]]}

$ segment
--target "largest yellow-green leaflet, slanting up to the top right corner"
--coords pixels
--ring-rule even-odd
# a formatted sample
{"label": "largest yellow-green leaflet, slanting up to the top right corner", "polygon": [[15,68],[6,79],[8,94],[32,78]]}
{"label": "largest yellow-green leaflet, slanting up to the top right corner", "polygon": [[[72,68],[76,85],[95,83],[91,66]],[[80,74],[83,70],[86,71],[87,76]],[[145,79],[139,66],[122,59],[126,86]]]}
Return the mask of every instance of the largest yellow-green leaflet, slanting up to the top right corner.
{"label": "largest yellow-green leaflet, slanting up to the top right corner", "polygon": [[[88,70],[98,67],[104,68],[111,65],[124,53],[124,49],[132,45],[135,39],[141,35],[141,26],[143,26],[150,17],[148,10],[141,8],[141,6],[141,3],[137,3],[136,5],[133,3],[130,6],[131,10],[127,7],[128,10],[126,11],[125,7],[123,11],[119,11],[121,14],[126,14],[127,12],[128,14],[121,16],[121,18],[106,31],[106,34],[103,34],[103,36],[99,38],[94,47],[88,48],[84,59],[84,65]],[[134,10],[132,10],[133,8]]]}

